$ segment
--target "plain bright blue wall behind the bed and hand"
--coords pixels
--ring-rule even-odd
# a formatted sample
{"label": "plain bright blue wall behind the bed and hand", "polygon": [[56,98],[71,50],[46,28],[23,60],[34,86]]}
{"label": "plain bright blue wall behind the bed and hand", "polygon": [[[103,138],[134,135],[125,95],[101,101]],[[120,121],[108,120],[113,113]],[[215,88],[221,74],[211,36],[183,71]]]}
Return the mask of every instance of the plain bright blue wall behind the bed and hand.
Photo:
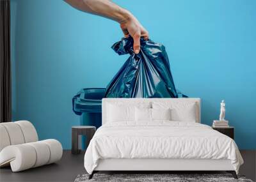
{"label": "plain bright blue wall behind the bed and hand", "polygon": [[[241,149],[256,148],[256,1],[118,1],[166,46],[176,86],[202,98],[202,123],[218,119],[220,101]],[[111,45],[116,22],[63,1],[11,0],[13,120],[28,119],[40,139],[71,147],[72,96],[106,87],[127,56]]]}

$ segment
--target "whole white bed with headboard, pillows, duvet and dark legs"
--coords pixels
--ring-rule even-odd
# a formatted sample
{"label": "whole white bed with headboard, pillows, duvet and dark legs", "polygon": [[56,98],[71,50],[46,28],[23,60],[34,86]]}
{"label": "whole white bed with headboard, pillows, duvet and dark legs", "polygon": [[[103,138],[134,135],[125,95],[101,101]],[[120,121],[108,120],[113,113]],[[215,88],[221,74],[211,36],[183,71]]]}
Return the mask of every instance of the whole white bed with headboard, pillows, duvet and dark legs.
{"label": "whole white bed with headboard, pillows, duvet and dark legs", "polygon": [[[124,113],[123,106],[128,108]],[[175,121],[148,121],[144,116],[138,121],[138,116],[131,118],[134,107],[155,112],[170,107],[169,120]],[[96,171],[230,171],[236,178],[242,163],[234,140],[200,124],[199,98],[104,98],[102,126],[84,156],[84,167],[92,175]]]}

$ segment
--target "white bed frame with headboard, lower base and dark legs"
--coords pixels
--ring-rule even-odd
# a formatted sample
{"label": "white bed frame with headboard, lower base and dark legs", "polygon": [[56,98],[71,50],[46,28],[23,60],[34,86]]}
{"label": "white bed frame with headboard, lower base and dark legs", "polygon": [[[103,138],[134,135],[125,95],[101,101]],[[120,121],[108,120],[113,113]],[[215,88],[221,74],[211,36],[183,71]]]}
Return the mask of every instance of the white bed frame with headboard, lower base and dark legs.
{"label": "white bed frame with headboard, lower base and dark legs", "polygon": [[[106,123],[107,105],[113,102],[195,102],[198,108],[196,122],[200,123],[200,98],[104,98],[102,100],[102,125]],[[232,174],[237,179],[236,171],[230,160],[211,160],[211,159],[159,159],[159,158],[145,158],[145,159],[124,159],[124,158],[109,158],[101,159],[95,170],[90,174],[89,179],[93,174],[99,171],[117,171],[117,172],[141,172],[147,173],[169,173],[173,171],[226,171]]]}

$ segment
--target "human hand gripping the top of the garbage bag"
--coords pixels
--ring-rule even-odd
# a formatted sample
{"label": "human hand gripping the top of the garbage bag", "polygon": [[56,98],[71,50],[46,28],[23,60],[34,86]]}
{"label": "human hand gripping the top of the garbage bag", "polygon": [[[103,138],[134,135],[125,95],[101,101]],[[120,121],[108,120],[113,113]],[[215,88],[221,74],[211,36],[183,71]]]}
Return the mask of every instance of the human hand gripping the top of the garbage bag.
{"label": "human hand gripping the top of the garbage bag", "polygon": [[126,20],[122,20],[120,27],[125,37],[131,36],[133,38],[133,50],[135,54],[138,54],[140,52],[140,38],[143,36],[145,40],[148,40],[148,31],[132,15]]}

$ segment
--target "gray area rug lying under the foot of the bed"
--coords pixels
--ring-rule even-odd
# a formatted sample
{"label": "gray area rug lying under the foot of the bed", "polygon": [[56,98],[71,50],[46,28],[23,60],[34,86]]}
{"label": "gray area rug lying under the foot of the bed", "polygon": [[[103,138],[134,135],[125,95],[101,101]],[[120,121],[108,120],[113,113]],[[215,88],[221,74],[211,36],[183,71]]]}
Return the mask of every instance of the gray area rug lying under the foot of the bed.
{"label": "gray area rug lying under the foot of the bed", "polygon": [[92,179],[88,179],[88,174],[78,175],[75,182],[93,182],[93,181],[136,181],[136,182],[150,182],[150,181],[171,181],[171,182],[185,182],[185,181],[243,181],[253,182],[251,179],[246,179],[244,176],[238,176],[239,179],[234,179],[231,174],[94,174]]}

